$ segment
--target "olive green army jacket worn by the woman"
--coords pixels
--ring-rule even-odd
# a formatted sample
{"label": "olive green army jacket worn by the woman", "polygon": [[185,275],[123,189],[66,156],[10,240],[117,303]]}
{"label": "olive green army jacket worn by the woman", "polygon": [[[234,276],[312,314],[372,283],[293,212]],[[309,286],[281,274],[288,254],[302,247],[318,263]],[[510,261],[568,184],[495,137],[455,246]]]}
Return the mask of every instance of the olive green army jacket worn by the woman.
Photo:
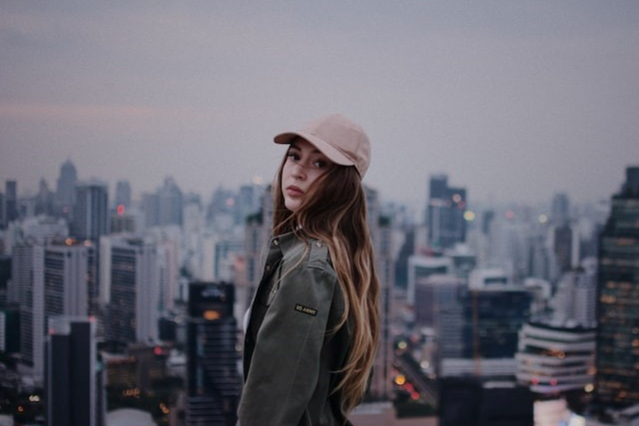
{"label": "olive green army jacket worn by the woman", "polygon": [[244,342],[241,426],[350,425],[335,391],[351,325],[327,246],[295,234],[271,240]]}

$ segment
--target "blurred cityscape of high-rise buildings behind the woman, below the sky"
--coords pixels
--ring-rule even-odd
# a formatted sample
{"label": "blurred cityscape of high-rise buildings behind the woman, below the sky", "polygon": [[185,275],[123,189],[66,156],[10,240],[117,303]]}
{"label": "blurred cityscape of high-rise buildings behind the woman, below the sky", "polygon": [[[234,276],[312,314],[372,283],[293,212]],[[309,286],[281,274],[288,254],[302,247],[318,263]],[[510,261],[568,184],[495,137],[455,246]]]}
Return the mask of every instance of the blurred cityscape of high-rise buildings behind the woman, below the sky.
{"label": "blurred cityscape of high-rise buildings behind the woman, below the sky", "polygon": [[[503,207],[432,175],[421,219],[366,187],[383,325],[354,424],[635,424],[639,167],[624,172],[609,200]],[[0,196],[0,424],[234,425],[270,187],[110,195],[77,175],[67,160],[55,186]]]}

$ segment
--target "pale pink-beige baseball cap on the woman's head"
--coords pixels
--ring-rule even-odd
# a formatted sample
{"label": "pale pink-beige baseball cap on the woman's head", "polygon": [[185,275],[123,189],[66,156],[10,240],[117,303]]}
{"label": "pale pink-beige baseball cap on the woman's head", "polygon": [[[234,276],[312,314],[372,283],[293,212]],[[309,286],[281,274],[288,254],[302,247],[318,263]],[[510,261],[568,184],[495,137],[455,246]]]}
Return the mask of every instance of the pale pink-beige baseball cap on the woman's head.
{"label": "pale pink-beige baseball cap on the woman's head", "polygon": [[354,165],[363,179],[371,162],[371,143],[359,124],[342,114],[330,114],[305,124],[301,130],[280,133],[275,143],[292,143],[305,138],[339,165]]}

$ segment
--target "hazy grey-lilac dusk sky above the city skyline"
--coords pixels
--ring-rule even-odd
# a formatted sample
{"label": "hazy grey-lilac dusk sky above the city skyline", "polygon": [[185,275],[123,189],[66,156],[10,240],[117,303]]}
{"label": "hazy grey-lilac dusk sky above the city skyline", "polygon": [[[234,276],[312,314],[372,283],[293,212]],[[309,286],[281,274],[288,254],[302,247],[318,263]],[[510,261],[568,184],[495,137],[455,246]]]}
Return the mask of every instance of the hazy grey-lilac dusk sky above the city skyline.
{"label": "hazy grey-lilac dusk sky above the city skyline", "polygon": [[639,2],[0,1],[18,193],[71,160],[207,201],[271,182],[273,136],[332,112],[368,133],[385,201],[442,173],[469,204],[609,199],[639,165]]}

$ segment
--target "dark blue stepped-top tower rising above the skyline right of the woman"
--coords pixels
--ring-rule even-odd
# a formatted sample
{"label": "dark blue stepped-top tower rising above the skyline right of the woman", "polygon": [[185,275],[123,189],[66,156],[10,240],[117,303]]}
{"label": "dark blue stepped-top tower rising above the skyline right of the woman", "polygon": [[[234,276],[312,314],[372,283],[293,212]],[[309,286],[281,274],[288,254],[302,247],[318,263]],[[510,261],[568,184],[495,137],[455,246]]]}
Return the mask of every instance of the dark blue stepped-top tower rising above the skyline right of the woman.
{"label": "dark blue stepped-top tower rising above the skyline right of the woman", "polygon": [[449,249],[466,241],[466,204],[465,188],[449,187],[446,175],[430,178],[426,219],[432,249]]}

